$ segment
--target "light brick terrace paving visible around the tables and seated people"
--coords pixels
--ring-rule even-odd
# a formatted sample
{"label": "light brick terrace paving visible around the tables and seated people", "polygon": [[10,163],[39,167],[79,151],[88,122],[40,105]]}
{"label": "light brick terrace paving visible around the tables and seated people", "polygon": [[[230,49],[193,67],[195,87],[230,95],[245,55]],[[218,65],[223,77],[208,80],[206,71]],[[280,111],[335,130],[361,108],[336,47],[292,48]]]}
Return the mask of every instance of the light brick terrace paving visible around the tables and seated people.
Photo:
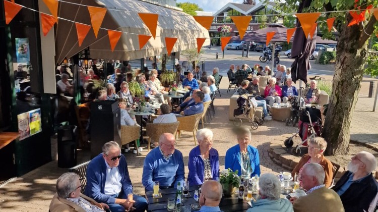
{"label": "light brick terrace paving visible around the tables and seated people", "polygon": [[[330,76],[329,79],[332,79]],[[357,102],[356,111],[353,116],[351,138],[359,142],[378,144],[378,113],[371,112],[373,98],[367,98],[366,89],[363,83],[360,98]],[[216,118],[211,120],[211,124],[206,127],[214,132],[215,142],[213,147],[219,151],[220,169],[224,169],[224,156],[226,150],[237,143],[235,135],[232,133],[232,123],[228,121],[229,97],[233,92],[226,93],[228,80],[226,77],[221,82],[221,94],[217,96],[214,104],[216,108]],[[282,142],[284,134],[296,132],[294,127],[286,127],[285,123],[277,121],[267,121],[259,129],[252,132],[251,145],[256,146],[260,153],[262,173],[278,173],[283,168],[276,165],[268,156],[269,143]],[[188,153],[194,147],[193,135],[190,132],[183,132],[181,138],[177,140],[177,149],[184,155],[185,176],[187,176]],[[78,151],[78,163],[89,160],[88,151]],[[125,153],[129,164],[130,177],[134,185],[134,191],[143,195],[144,189],[141,183],[142,167],[147,151],[142,156],[133,153]],[[1,211],[48,211],[48,207],[53,194],[55,193],[55,183],[57,177],[67,169],[57,168],[56,162],[50,162],[0,188],[0,210]]]}

